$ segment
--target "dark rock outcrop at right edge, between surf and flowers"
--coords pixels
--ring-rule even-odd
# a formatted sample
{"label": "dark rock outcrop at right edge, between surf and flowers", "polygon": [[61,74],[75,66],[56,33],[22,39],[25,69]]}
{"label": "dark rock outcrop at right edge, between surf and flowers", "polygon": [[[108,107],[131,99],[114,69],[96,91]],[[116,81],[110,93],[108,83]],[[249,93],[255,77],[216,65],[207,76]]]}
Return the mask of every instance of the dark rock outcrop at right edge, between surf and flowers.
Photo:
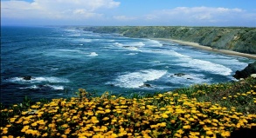
{"label": "dark rock outcrop at right edge, between surf and flowers", "polygon": [[241,71],[237,70],[233,77],[235,77],[236,79],[240,79],[251,76],[252,74],[256,74],[256,62],[249,63],[246,69],[243,69]]}

